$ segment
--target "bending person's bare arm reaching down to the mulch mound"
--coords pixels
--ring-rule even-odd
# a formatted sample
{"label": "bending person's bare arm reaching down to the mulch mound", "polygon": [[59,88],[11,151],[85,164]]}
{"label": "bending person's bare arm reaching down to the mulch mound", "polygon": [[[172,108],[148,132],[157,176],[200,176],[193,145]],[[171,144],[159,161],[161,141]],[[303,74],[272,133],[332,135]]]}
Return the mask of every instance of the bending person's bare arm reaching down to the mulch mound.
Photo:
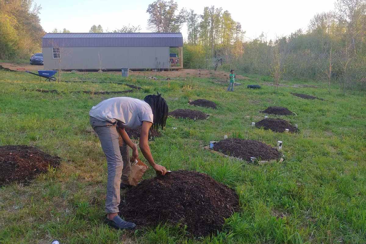
{"label": "bending person's bare arm reaching down to the mulch mound", "polygon": [[149,139],[149,129],[153,125],[153,123],[148,121],[142,121],[141,134],[140,134],[140,149],[143,156],[149,162],[149,164],[153,167],[153,169],[159,174],[167,173],[167,169],[164,166],[158,165],[155,163],[153,159],[153,155],[151,155],[149,143],[147,143]]}

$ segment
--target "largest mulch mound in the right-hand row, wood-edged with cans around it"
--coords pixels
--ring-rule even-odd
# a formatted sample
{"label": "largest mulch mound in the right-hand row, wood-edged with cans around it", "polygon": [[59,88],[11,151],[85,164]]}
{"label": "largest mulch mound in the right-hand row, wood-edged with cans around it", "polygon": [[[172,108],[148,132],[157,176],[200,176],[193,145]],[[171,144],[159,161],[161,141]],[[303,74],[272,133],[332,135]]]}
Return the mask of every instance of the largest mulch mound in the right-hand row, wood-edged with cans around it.
{"label": "largest mulch mound in the right-hand row, wood-edged with cans around it", "polygon": [[281,154],[277,149],[270,147],[256,140],[243,140],[239,138],[228,138],[216,142],[213,150],[224,153],[235,158],[242,158],[250,162],[250,157],[257,160],[279,159]]}

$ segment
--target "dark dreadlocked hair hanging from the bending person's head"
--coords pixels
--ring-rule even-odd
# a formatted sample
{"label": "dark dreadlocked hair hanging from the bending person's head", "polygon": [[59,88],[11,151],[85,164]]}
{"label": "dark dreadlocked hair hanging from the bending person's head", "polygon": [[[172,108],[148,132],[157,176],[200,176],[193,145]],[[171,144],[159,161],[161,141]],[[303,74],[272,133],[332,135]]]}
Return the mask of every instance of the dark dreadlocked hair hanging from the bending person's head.
{"label": "dark dreadlocked hair hanging from the bending person's head", "polygon": [[147,95],[143,101],[147,102],[153,111],[154,121],[152,128],[158,129],[160,126],[161,129],[163,129],[167,123],[168,105],[164,98],[161,97],[161,93],[157,93],[157,95]]}

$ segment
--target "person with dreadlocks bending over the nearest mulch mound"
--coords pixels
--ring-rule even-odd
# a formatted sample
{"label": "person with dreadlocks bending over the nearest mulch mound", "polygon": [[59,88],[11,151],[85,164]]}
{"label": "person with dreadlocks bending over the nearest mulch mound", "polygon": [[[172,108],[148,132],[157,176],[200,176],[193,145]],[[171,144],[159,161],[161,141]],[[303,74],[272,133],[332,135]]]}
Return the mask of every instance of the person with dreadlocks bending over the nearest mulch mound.
{"label": "person with dreadlocks bending over the nearest mulch mound", "polygon": [[[130,97],[115,97],[101,101],[91,108],[90,125],[98,134],[107,157],[108,180],[105,211],[106,222],[116,229],[133,229],[134,223],[119,217],[120,188],[129,187],[130,147],[132,157],[138,159],[137,146],[127,135],[125,128],[141,127],[139,147],[143,156],[157,174],[165,174],[164,166],[155,163],[147,143],[149,129],[164,128],[168,117],[168,105],[161,94],[147,95],[144,101]],[[121,182],[122,177],[122,182]]]}

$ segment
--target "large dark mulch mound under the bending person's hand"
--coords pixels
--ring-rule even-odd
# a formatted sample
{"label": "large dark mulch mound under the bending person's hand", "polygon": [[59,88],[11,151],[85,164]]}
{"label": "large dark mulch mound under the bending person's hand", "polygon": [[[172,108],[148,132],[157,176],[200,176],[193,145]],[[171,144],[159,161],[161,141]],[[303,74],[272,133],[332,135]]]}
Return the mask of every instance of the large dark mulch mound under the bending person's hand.
{"label": "large dark mulch mound under the bending person's hand", "polygon": [[139,227],[182,223],[197,237],[221,230],[224,218],[239,211],[234,190],[207,174],[186,170],[143,180],[121,199],[120,215],[127,221]]}

